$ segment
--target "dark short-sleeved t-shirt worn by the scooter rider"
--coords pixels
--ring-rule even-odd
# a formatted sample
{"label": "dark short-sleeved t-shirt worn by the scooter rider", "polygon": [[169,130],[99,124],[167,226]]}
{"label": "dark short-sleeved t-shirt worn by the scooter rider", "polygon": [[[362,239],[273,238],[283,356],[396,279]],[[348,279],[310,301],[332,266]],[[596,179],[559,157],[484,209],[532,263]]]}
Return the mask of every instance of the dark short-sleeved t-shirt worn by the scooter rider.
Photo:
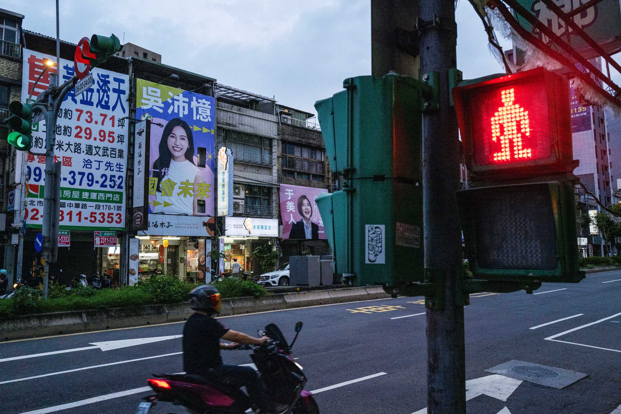
{"label": "dark short-sleeved t-shirt worn by the scooter rider", "polygon": [[183,369],[196,372],[222,365],[220,338],[227,333],[222,323],[194,313],[183,326]]}

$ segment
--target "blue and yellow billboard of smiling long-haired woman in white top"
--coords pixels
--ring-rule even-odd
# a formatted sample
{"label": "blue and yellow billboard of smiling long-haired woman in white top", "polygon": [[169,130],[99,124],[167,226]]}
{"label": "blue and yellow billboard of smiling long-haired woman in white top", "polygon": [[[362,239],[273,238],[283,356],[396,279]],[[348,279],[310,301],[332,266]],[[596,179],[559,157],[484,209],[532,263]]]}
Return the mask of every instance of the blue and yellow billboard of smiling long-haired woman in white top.
{"label": "blue and yellow billboard of smiling long-haired woman in white top", "polygon": [[[214,97],[143,79],[136,81],[136,95],[136,117],[152,120],[145,233],[209,235],[202,222],[215,206]],[[171,227],[177,233],[168,232]]]}

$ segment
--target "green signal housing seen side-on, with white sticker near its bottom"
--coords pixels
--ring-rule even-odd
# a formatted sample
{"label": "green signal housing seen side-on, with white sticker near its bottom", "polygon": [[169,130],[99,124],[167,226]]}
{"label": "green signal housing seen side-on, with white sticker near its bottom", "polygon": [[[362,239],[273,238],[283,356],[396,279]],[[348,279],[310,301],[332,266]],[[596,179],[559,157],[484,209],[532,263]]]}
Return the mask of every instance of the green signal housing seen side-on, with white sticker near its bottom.
{"label": "green signal housing seen side-on, with white sticker near its bottom", "polygon": [[424,278],[422,94],[408,76],[345,79],[315,103],[343,189],[317,197],[335,273],[358,286]]}

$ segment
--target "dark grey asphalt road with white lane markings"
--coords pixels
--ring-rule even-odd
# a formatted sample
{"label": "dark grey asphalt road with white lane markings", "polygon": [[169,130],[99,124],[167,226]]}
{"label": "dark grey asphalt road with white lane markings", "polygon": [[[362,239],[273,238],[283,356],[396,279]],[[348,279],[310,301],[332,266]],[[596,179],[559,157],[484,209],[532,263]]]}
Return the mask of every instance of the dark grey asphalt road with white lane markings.
{"label": "dark grey asphalt road with white lane markings", "polygon": [[[587,275],[580,284],[544,284],[534,295],[471,295],[465,308],[467,380],[491,376],[484,370],[511,359],[587,377],[564,389],[524,381],[506,402],[485,394],[471,398],[468,412],[614,412],[621,405],[620,293],[621,271],[615,271]],[[221,321],[250,335],[274,322],[289,340],[295,323],[304,322],[293,353],[309,377],[307,390],[336,385],[315,396],[324,414],[411,414],[427,405],[421,299],[325,305]],[[543,326],[530,329],[538,325]],[[132,414],[140,398],[149,394],[141,389],[152,373],[183,371],[181,339],[107,351],[91,344],[175,336],[182,329],[183,323],[171,323],[0,343],[0,412]],[[68,349],[79,350],[54,353]],[[16,359],[39,353],[52,354]],[[227,351],[223,356],[226,363],[248,364],[248,354]],[[351,380],[358,381],[342,384]],[[185,411],[167,403],[152,410],[170,412]]]}

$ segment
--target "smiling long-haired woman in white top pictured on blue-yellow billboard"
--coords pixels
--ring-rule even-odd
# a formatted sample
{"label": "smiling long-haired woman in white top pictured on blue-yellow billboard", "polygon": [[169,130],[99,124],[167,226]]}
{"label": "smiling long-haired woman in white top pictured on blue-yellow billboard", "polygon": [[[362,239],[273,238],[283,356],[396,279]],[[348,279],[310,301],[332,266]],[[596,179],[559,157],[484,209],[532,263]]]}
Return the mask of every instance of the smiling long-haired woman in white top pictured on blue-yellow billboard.
{"label": "smiling long-haired woman in white top pictured on blue-yellow billboard", "polygon": [[192,128],[182,119],[171,119],[161,134],[152,177],[157,178],[155,213],[198,215],[201,170],[194,164]]}

